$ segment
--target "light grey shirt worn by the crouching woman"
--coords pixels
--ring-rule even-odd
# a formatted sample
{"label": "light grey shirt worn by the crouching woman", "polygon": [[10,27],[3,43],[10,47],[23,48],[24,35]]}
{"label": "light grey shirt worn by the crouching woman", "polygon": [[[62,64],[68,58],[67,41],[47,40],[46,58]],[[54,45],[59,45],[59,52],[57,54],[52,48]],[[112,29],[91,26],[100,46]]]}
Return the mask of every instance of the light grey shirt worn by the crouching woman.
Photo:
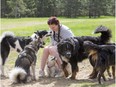
{"label": "light grey shirt worn by the crouching woman", "polygon": [[[59,40],[62,41],[63,39],[66,39],[66,38],[69,38],[69,37],[74,37],[74,34],[72,33],[72,31],[67,26],[60,25]],[[52,31],[51,44],[52,45],[57,45],[58,44],[58,32],[55,32],[55,40],[54,40],[53,31]]]}

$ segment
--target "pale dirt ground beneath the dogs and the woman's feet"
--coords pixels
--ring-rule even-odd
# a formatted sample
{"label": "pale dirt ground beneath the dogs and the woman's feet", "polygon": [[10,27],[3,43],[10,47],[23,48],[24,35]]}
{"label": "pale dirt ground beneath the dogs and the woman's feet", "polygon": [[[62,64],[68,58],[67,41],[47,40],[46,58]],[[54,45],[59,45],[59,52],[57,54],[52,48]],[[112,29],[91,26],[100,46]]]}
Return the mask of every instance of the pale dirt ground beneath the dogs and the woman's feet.
{"label": "pale dirt ground beneath the dogs and the woman's feet", "polygon": [[[5,68],[6,77],[1,79],[1,87],[114,87],[115,80],[107,76],[107,81],[104,85],[99,85],[97,79],[88,79],[88,75],[92,71],[92,67],[88,60],[79,63],[79,72],[77,73],[76,80],[69,80],[62,78],[38,78],[38,69],[36,69],[36,81],[26,84],[12,84],[8,78],[8,72],[11,68]],[[106,73],[106,72],[105,72]],[[107,74],[107,73],[106,73]]]}

